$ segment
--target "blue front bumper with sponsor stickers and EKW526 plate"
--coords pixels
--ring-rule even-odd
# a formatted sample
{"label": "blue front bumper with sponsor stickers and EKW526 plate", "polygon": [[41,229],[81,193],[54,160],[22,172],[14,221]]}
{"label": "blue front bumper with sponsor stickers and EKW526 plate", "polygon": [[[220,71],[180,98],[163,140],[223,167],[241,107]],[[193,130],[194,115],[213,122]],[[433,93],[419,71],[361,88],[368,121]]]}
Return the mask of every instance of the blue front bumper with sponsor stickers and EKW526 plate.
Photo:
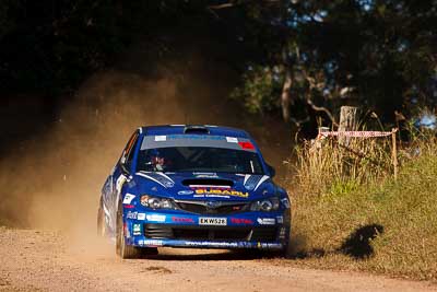
{"label": "blue front bumper with sponsor stickers and EKW526 plate", "polygon": [[[252,212],[197,215],[152,212],[127,218],[126,242],[139,247],[258,248],[279,250],[288,242],[290,215]],[[206,223],[205,219],[217,219]],[[214,221],[214,220],[213,220]]]}

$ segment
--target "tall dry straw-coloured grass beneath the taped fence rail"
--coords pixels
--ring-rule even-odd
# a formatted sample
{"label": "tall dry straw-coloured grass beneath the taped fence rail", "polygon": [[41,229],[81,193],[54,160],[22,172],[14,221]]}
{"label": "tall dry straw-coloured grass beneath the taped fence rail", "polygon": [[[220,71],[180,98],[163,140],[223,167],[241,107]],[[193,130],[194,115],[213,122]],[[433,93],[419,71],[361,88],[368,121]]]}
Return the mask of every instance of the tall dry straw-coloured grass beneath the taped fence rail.
{"label": "tall dry straw-coloured grass beneath the taped fence rail", "polygon": [[316,140],[296,148],[296,178],[300,194],[321,195],[332,188],[350,189],[378,182],[393,172],[391,140],[351,138]]}

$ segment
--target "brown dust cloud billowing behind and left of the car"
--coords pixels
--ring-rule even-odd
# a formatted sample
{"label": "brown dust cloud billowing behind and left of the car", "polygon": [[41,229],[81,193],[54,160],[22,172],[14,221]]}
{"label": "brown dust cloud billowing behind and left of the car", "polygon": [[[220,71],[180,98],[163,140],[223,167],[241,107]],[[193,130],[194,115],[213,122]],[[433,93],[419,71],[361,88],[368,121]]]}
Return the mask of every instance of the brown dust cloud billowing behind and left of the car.
{"label": "brown dust cloud billowing behind and left of the car", "polygon": [[287,143],[281,144],[279,127],[269,131],[263,122],[245,121],[238,107],[226,98],[228,86],[221,83],[223,77],[214,75],[220,72],[208,70],[205,74],[199,66],[166,78],[122,70],[92,77],[49,131],[26,141],[24,151],[0,161],[0,223],[59,230],[70,235],[72,245],[98,248],[101,188],[139,126],[249,125],[249,131],[272,153],[281,153],[277,147],[287,151]]}

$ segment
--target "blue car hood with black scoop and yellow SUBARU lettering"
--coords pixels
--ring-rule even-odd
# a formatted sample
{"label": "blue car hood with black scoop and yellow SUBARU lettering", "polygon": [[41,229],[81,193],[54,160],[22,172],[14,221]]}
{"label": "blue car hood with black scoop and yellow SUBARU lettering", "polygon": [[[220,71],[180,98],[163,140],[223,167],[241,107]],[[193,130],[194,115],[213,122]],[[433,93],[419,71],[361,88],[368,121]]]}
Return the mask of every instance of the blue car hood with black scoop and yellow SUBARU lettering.
{"label": "blue car hood with black scoop and yellow SUBARU lettering", "polygon": [[138,172],[132,178],[139,195],[179,200],[239,201],[275,194],[275,185],[267,175]]}

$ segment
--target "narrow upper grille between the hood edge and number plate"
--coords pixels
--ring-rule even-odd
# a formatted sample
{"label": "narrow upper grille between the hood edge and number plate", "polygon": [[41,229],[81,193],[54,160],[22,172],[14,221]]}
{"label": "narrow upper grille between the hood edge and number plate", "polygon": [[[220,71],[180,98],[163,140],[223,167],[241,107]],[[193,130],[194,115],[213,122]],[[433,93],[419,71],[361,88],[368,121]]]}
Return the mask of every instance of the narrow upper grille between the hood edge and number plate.
{"label": "narrow upper grille between the hood edge and number plate", "polygon": [[247,202],[217,201],[218,207],[208,206],[208,201],[176,201],[179,209],[197,214],[232,214],[246,211],[249,208]]}

